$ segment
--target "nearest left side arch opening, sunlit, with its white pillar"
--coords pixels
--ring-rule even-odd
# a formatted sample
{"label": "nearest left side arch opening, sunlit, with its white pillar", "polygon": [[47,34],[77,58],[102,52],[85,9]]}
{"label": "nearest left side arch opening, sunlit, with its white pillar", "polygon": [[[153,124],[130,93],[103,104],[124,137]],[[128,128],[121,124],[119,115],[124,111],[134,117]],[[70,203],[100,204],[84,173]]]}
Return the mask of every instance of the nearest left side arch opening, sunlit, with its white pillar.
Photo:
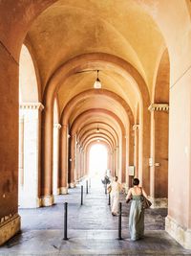
{"label": "nearest left side arch opening, sunlit, with its white pillar", "polygon": [[19,59],[19,186],[18,204],[22,208],[40,206],[38,180],[40,173],[39,84],[33,58],[23,45]]}

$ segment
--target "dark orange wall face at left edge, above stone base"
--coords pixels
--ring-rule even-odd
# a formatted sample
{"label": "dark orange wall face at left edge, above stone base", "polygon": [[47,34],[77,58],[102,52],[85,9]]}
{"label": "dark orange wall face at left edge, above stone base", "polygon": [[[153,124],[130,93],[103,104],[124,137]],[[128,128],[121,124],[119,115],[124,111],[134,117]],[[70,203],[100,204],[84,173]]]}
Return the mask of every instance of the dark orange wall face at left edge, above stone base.
{"label": "dark orange wall face at left edge, above stone base", "polygon": [[17,212],[18,64],[0,45],[0,219]]}

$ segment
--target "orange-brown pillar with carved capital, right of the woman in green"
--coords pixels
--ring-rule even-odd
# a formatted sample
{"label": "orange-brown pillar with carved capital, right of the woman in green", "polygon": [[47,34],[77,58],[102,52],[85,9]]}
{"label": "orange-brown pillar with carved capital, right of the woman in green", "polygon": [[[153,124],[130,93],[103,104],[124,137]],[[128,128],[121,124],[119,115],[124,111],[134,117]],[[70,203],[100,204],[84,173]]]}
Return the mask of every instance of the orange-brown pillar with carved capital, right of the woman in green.
{"label": "orange-brown pillar with carved capital, right of the woman in green", "polygon": [[167,207],[168,192],[168,110],[164,104],[149,106],[151,111],[150,197],[153,207]]}

